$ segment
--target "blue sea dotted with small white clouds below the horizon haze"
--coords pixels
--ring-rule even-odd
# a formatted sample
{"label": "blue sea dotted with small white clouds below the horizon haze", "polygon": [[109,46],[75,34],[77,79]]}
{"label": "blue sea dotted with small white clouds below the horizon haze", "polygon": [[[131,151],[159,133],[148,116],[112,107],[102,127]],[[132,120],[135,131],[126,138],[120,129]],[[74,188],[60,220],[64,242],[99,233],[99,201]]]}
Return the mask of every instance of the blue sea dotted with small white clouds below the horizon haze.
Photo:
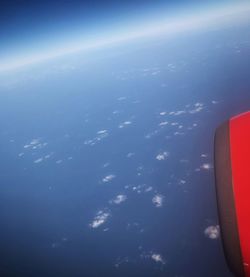
{"label": "blue sea dotted with small white clouds below the horizon haze", "polygon": [[0,77],[1,276],[231,276],[213,136],[250,107],[250,29]]}

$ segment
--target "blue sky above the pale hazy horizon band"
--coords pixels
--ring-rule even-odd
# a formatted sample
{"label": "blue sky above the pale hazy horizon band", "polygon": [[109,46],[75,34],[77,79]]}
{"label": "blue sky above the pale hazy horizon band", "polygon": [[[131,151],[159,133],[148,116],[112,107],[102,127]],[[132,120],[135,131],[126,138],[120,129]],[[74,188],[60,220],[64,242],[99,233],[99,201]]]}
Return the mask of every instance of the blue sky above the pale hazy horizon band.
{"label": "blue sky above the pale hazy horizon band", "polygon": [[186,14],[198,15],[209,7],[236,2],[247,1],[0,0],[0,65],[57,51],[71,41],[76,45],[78,37],[86,41],[111,32],[125,33],[126,28],[138,28],[137,23],[147,26],[159,18],[181,20]]}

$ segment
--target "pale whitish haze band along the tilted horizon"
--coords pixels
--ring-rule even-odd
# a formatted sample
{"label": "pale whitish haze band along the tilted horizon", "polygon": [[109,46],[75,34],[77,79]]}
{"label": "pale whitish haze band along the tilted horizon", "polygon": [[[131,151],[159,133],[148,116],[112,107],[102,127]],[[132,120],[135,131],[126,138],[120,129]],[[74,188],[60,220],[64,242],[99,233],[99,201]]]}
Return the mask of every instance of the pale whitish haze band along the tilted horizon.
{"label": "pale whitish haze band along the tilted horizon", "polygon": [[[52,60],[58,57],[63,57],[73,53],[79,53],[89,50],[100,49],[102,47],[108,47],[112,45],[119,45],[122,42],[128,42],[131,40],[156,37],[160,34],[165,34],[167,37],[179,34],[181,32],[197,31],[205,27],[216,26],[221,27],[224,24],[230,22],[238,22],[242,24],[246,20],[249,20],[248,16],[243,16],[250,13],[250,3],[241,3],[226,5],[220,8],[214,6],[208,11],[201,12],[199,14],[189,14],[185,16],[175,16],[173,18],[153,21],[150,24],[144,24],[143,28],[133,28],[130,26],[129,30],[121,32],[121,29],[116,30],[122,34],[111,34],[108,37],[99,36],[97,39],[92,40],[80,40],[75,39],[74,42],[66,45],[66,47],[58,46],[55,50],[43,52],[38,51],[33,55],[25,55],[12,57],[6,60],[4,63],[0,62],[0,73],[16,70],[18,68],[27,67],[37,63]],[[250,22],[250,20],[249,20]],[[142,24],[143,22],[137,22]],[[102,31],[102,30],[100,30]],[[124,31],[124,30],[123,30]]]}

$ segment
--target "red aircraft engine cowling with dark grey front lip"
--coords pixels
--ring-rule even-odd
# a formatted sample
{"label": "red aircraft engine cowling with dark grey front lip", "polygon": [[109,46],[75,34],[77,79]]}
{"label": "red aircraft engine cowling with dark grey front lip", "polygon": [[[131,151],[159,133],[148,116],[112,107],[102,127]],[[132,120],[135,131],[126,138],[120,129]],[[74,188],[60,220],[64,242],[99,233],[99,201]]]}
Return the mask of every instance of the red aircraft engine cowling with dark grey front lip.
{"label": "red aircraft engine cowling with dark grey front lip", "polygon": [[250,112],[215,134],[215,180],[225,256],[236,276],[250,276]]}

